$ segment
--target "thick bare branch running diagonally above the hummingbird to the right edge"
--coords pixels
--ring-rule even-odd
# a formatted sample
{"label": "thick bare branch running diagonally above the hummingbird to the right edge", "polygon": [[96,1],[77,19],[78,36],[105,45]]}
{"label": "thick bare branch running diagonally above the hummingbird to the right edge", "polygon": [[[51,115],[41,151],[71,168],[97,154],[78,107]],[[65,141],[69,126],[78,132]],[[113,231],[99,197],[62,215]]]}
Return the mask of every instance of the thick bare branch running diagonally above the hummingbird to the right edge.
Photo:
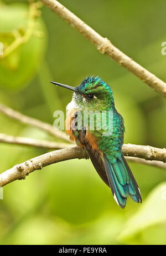
{"label": "thick bare branch running diagonally above the hummingbird to the right edge", "polygon": [[114,61],[119,63],[121,66],[131,71],[135,76],[140,78],[143,82],[147,83],[156,92],[160,93],[166,98],[166,83],[161,79],[156,77],[147,69],[143,68],[137,62],[129,58],[125,53],[121,52],[118,48],[113,46],[113,44],[100,34],[98,34],[94,29],[89,27],[85,22],[81,21],[80,18],[75,16],[74,13],[70,12],[62,4],[56,0],[40,0],[45,6],[49,7],[54,13],[58,14],[64,21],[70,24],[79,33],[82,34],[86,39],[88,39],[97,50],[107,56],[111,57]]}

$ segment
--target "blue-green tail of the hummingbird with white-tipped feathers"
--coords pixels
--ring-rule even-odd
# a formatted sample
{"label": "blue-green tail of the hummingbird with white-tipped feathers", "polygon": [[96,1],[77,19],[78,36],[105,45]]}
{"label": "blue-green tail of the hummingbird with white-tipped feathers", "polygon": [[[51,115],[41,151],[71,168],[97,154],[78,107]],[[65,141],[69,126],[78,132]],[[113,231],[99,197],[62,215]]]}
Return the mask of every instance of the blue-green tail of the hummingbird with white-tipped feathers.
{"label": "blue-green tail of the hummingbird with white-tipped feathers", "polygon": [[133,177],[125,157],[117,158],[112,163],[106,155],[103,156],[105,170],[113,193],[113,197],[120,207],[125,208],[128,195],[137,203],[141,203],[141,193]]}

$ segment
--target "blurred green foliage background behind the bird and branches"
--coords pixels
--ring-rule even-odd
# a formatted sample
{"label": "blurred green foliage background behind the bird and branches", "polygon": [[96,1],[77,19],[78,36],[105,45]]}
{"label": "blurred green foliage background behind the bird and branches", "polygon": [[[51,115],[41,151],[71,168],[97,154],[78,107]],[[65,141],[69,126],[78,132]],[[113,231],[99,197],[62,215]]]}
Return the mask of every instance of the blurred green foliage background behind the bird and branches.
{"label": "blurred green foliage background behind the bird and branches", "polygon": [[[64,1],[64,4],[121,51],[166,81],[166,2]],[[0,60],[0,101],[53,124],[53,112],[65,111],[71,92],[49,81],[76,86],[98,75],[110,84],[116,108],[125,119],[125,143],[165,147],[164,98],[107,56],[50,9],[42,7],[32,36]],[[28,1],[0,3],[0,41],[25,33]],[[48,134],[0,114],[1,133],[53,140]],[[46,152],[0,144],[1,170]],[[166,172],[129,163],[143,203],[128,199],[122,210],[98,177],[90,160],[70,160],[36,171],[4,187],[0,200],[1,244],[166,244]]]}

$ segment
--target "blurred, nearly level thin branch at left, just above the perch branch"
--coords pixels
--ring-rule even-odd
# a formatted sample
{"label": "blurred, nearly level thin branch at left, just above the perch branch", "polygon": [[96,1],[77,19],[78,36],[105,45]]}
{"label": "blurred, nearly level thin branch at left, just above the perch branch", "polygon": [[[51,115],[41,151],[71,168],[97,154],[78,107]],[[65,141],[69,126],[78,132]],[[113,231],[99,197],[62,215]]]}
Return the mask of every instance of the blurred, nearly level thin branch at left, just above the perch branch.
{"label": "blurred, nearly level thin branch at left, just above the perch branch", "polygon": [[3,133],[0,133],[0,142],[9,143],[9,144],[27,145],[27,146],[32,146],[37,148],[47,148],[47,149],[61,149],[61,148],[71,147],[71,144],[69,143],[51,142],[48,140],[15,137],[15,136],[3,134]]}

